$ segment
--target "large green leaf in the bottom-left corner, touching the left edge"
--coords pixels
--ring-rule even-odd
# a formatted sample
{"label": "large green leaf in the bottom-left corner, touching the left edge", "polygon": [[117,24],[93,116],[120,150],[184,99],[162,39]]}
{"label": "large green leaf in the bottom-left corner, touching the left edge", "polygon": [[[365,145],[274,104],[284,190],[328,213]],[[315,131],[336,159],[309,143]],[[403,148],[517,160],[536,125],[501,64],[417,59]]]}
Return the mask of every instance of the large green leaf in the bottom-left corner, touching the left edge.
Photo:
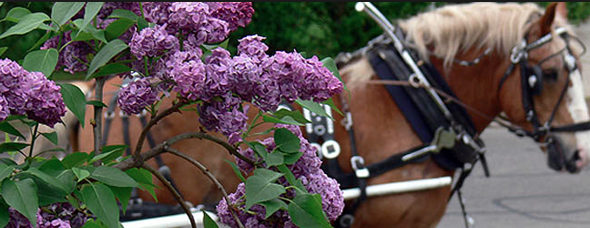
{"label": "large green leaf in the bottom-left corner, touching the left edge", "polygon": [[8,206],[16,209],[27,217],[31,224],[37,223],[37,186],[31,179],[24,179],[17,182],[4,180],[2,182],[2,198]]}

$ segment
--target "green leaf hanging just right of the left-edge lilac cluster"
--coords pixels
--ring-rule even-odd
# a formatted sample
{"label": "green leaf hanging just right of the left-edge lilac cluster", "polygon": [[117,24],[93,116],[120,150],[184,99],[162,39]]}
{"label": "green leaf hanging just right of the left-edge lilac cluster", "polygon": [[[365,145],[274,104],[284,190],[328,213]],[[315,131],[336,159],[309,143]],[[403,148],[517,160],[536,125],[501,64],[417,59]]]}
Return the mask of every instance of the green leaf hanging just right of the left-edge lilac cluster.
{"label": "green leaf hanging just right of the left-edge lilac cluster", "polygon": [[64,99],[66,107],[78,118],[80,125],[84,127],[86,122],[86,95],[75,85],[59,83],[60,93]]}

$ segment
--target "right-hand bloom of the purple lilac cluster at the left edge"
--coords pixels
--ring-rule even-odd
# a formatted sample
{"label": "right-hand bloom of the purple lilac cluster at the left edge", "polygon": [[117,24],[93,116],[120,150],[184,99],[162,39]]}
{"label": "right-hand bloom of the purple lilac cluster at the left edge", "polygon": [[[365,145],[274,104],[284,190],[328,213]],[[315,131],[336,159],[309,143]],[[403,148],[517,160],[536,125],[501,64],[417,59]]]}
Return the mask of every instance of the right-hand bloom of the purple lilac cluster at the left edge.
{"label": "right-hand bloom of the purple lilac cluster at the left edge", "polygon": [[41,72],[31,72],[23,82],[27,101],[25,112],[29,119],[53,127],[66,114],[60,87]]}

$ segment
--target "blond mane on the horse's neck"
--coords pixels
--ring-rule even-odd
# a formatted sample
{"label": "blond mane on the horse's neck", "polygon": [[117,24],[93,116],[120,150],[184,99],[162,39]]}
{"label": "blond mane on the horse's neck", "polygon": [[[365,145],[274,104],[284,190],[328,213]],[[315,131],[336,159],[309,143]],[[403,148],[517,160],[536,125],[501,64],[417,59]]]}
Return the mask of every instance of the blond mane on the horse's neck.
{"label": "blond mane on the horse's neck", "polygon": [[[490,3],[448,5],[399,22],[423,59],[432,53],[449,66],[461,51],[492,48],[508,54],[519,44],[533,13],[543,9],[533,3]],[[432,50],[428,50],[432,48]]]}

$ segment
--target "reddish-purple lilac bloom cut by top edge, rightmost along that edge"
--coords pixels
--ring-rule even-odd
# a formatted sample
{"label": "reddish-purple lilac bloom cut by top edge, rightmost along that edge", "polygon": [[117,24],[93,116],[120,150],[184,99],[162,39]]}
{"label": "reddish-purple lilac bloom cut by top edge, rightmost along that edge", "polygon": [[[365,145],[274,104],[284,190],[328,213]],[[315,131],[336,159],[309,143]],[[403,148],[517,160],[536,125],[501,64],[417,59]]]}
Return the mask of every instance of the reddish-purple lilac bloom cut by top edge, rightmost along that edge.
{"label": "reddish-purple lilac bloom cut by top edge, rightmost along that edge", "polygon": [[251,2],[208,2],[211,16],[228,23],[230,31],[246,27],[252,21],[254,8]]}

